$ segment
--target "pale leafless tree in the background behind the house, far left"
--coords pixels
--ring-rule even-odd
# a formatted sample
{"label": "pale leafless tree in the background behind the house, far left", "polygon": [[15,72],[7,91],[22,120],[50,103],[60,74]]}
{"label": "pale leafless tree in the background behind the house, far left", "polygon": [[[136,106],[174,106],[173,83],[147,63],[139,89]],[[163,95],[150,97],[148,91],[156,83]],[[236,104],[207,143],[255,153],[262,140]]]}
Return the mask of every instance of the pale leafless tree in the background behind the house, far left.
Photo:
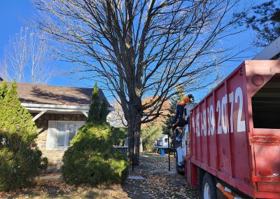
{"label": "pale leafless tree in the background behind the house, far left", "polygon": [[21,28],[6,46],[1,73],[17,82],[48,83],[52,69],[47,64],[46,50],[43,34]]}

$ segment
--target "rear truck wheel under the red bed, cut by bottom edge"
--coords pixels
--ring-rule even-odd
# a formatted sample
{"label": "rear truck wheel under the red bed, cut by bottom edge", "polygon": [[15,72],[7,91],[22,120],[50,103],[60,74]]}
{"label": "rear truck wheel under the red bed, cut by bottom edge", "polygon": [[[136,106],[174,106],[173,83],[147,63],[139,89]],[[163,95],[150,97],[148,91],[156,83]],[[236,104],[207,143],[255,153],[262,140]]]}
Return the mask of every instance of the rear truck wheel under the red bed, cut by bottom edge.
{"label": "rear truck wheel under the red bed, cut by bottom edge", "polygon": [[202,181],[202,196],[203,199],[216,199],[216,185],[214,177],[209,173],[204,174]]}

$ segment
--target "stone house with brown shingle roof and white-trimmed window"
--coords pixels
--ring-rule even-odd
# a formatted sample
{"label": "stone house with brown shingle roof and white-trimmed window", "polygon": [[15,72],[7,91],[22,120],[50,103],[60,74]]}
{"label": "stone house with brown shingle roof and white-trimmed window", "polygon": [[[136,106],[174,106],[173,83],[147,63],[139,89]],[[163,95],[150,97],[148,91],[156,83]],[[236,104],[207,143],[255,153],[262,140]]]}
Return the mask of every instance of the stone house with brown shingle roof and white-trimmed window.
{"label": "stone house with brown shingle roof and white-trimmed window", "polygon": [[[38,127],[38,149],[48,158],[48,171],[55,172],[62,165],[62,156],[69,142],[87,120],[92,88],[32,83],[17,83],[17,86],[22,106],[34,116],[33,121]],[[99,90],[100,102],[104,97]]]}

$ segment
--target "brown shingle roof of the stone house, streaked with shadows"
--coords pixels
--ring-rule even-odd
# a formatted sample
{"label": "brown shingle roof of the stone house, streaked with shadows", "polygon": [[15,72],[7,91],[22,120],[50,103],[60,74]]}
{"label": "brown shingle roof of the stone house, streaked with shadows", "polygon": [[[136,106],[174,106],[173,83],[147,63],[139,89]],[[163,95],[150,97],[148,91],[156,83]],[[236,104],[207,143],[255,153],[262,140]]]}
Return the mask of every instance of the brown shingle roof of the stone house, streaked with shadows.
{"label": "brown shingle roof of the stone house, streaked with shadows", "polygon": [[[33,83],[17,83],[17,86],[18,97],[22,103],[88,106],[92,96],[92,88]],[[104,93],[99,89],[99,101],[102,102],[104,97]],[[106,102],[111,107],[107,100]]]}

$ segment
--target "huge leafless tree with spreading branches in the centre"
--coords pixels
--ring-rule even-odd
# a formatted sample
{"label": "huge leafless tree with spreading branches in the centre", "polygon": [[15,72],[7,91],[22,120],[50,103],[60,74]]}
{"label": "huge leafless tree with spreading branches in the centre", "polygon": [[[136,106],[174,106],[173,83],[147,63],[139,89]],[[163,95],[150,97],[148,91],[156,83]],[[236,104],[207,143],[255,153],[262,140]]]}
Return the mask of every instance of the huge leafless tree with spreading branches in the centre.
{"label": "huge leafless tree with spreading branches in the centre", "polygon": [[[204,88],[206,76],[237,55],[227,53],[221,40],[237,33],[231,28],[244,14],[233,13],[239,0],[34,2],[38,28],[62,44],[62,60],[78,65],[72,73],[97,79],[119,99],[135,165],[141,123],[160,116],[176,86],[201,80],[197,88]],[[147,96],[153,100],[141,104]]]}

